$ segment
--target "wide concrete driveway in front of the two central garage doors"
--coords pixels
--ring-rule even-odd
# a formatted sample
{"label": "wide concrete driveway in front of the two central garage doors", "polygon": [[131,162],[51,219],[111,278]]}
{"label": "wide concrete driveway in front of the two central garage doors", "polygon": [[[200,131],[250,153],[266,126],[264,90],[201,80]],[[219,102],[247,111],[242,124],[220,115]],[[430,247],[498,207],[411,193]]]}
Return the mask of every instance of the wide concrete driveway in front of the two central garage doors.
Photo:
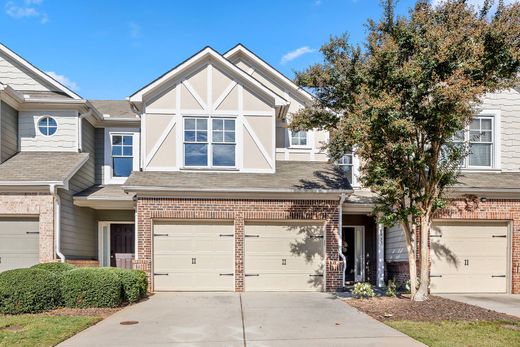
{"label": "wide concrete driveway in front of the two central garage doors", "polygon": [[60,346],[96,345],[423,346],[326,293],[158,293]]}

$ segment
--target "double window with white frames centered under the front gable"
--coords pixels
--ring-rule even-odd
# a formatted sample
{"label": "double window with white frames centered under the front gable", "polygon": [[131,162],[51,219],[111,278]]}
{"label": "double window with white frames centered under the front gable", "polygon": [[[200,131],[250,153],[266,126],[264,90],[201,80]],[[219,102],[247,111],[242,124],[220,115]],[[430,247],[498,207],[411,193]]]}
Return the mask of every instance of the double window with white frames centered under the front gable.
{"label": "double window with white frames centered under the front gable", "polygon": [[184,118],[184,166],[236,166],[234,118]]}

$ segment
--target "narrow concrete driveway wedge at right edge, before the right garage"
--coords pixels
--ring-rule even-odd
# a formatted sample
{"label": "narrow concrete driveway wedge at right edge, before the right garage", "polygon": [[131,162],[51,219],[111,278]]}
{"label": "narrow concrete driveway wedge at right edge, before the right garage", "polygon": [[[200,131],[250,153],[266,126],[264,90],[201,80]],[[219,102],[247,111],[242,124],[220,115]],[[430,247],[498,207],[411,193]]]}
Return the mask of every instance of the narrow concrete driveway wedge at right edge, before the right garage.
{"label": "narrow concrete driveway wedge at right edge, before the right garage", "polygon": [[442,297],[520,317],[519,294],[443,294]]}

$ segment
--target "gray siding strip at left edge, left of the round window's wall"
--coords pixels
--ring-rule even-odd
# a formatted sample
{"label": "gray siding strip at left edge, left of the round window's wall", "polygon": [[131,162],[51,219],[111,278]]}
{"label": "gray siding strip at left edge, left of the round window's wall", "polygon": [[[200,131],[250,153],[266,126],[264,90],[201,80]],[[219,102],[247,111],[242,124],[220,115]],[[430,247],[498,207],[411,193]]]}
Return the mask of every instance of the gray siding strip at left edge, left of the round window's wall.
{"label": "gray siding strip at left edge, left of the round window's wall", "polygon": [[2,101],[0,113],[0,163],[3,163],[18,152],[18,111]]}

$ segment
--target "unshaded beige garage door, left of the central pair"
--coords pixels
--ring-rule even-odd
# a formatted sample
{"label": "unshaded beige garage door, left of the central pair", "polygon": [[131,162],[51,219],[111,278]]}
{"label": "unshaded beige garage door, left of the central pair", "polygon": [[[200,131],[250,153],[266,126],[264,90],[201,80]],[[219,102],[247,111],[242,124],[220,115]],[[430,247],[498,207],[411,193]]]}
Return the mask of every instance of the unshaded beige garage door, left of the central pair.
{"label": "unshaded beige garage door, left of the central pair", "polygon": [[156,291],[232,291],[234,264],[232,224],[154,224]]}

